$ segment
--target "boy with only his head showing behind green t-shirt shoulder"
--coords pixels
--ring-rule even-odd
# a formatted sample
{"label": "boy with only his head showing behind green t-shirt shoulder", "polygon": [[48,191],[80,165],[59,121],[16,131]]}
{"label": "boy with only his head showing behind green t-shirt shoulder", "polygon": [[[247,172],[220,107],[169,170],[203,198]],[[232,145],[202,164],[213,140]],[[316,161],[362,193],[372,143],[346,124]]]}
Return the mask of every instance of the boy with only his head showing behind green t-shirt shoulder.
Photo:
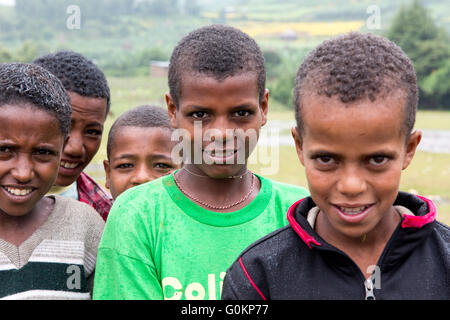
{"label": "boy with only his head showing behind green t-shirt shoulder", "polygon": [[108,159],[103,161],[113,199],[181,167],[172,159],[172,132],[167,110],[160,107],[136,107],[117,118],[108,135]]}

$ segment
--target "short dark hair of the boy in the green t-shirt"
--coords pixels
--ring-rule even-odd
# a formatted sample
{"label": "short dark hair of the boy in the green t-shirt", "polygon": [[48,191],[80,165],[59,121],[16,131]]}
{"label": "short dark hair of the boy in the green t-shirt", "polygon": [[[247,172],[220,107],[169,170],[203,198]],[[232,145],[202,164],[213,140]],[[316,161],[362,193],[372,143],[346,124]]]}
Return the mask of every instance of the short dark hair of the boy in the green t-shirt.
{"label": "short dark hair of the boy in the green t-shirt", "polygon": [[190,32],[178,42],[170,57],[169,90],[178,108],[185,74],[205,74],[217,80],[254,72],[259,100],[264,99],[266,67],[255,40],[239,29],[209,25]]}

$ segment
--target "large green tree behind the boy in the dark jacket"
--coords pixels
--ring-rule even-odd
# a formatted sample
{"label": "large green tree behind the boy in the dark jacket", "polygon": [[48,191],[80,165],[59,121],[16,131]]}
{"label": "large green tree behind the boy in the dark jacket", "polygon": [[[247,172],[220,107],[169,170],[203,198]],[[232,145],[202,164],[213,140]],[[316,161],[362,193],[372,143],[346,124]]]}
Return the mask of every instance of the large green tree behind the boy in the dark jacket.
{"label": "large green tree behind the boy in the dark jacket", "polygon": [[399,45],[414,64],[421,97],[419,108],[439,108],[444,101],[430,96],[431,80],[428,80],[428,90],[423,86],[427,77],[450,59],[449,36],[445,29],[436,26],[426,8],[415,0],[411,6],[400,8],[386,36]]}

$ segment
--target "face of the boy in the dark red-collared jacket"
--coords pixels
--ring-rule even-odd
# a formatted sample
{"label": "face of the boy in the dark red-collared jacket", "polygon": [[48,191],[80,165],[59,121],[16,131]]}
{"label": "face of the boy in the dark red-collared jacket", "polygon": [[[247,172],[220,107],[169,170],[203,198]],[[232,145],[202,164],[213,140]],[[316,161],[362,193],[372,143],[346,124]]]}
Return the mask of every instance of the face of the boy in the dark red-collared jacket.
{"label": "face of the boy in the dark red-collared jacket", "polygon": [[352,105],[303,97],[304,133],[292,133],[311,197],[333,232],[360,237],[393,213],[401,171],[421,139],[416,131],[405,144],[404,103],[399,95]]}

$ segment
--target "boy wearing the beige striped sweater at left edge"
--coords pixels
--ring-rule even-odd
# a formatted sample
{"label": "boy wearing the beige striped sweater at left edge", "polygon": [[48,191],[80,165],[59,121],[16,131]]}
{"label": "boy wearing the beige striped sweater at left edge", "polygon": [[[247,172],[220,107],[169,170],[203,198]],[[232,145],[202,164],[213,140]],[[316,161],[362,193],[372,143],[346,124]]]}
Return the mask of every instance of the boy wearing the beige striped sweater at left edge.
{"label": "boy wearing the beige striped sweater at left edge", "polygon": [[0,65],[0,298],[90,299],[104,222],[86,204],[46,196],[70,116],[50,72]]}

